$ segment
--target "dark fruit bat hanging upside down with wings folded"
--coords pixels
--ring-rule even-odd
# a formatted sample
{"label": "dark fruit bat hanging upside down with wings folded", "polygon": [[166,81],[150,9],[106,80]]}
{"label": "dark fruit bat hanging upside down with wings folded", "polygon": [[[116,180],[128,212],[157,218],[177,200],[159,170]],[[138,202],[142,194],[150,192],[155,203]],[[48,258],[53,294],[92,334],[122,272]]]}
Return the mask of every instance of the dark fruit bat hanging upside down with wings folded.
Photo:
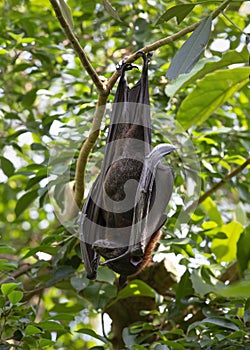
{"label": "dark fruit bat hanging upside down with wings folded", "polygon": [[[160,160],[175,147],[160,144],[151,149],[148,92],[151,54],[138,54],[143,58],[143,68],[132,88],[125,74],[136,66],[123,62],[117,67],[120,80],[102,168],[78,221],[89,279],[96,278],[99,264],[126,278],[150,261],[173,191],[173,171]],[[100,263],[100,257],[105,261]]]}

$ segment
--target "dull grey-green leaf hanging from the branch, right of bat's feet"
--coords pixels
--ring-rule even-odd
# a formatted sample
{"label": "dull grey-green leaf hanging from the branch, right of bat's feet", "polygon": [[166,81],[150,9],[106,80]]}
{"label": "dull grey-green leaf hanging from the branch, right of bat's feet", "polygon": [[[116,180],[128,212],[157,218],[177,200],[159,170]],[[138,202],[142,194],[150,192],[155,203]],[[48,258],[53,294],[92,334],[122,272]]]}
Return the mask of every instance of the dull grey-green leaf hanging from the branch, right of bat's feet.
{"label": "dull grey-green leaf hanging from the branch, right of bat's feet", "polygon": [[205,50],[210,37],[212,18],[202,20],[193,34],[186,40],[184,45],[177,51],[167,71],[169,80],[176,79],[180,74],[191,71]]}

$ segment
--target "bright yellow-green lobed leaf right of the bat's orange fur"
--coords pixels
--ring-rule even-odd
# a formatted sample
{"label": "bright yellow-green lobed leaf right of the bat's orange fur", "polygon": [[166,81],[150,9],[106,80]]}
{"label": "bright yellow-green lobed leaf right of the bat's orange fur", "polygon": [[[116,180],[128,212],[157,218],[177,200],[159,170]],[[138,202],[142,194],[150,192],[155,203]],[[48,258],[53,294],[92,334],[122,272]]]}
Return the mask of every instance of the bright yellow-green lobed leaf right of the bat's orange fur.
{"label": "bright yellow-green lobed leaf right of the bat's orange fur", "polygon": [[211,250],[219,262],[231,262],[236,259],[237,242],[243,232],[243,227],[239,222],[232,221],[221,226],[220,232],[225,233],[227,238],[214,238]]}

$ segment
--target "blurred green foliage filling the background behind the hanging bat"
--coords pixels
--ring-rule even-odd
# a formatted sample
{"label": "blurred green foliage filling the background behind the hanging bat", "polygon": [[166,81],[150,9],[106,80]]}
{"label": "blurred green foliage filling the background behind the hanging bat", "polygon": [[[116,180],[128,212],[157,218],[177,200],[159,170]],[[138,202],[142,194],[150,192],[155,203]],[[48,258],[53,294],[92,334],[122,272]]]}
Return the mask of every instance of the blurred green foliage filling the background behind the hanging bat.
{"label": "blurred green foliage filling the background behind the hanging bat", "polygon": [[[67,2],[103,79],[124,56],[198,22],[221,1],[112,1],[120,21],[106,3]],[[180,20],[184,4],[196,6]],[[161,17],[174,6],[168,20]],[[150,65],[153,143],[179,146],[171,157],[169,219],[155,254],[173,261],[176,278],[161,295],[140,281],[118,292],[105,267],[96,282],[85,278],[68,194],[97,92],[49,1],[0,0],[0,7],[0,349],[111,348],[101,314],[111,300],[136,294],[155,300],[155,309],[123,329],[124,348],[250,349],[249,1],[229,1],[185,77],[168,82],[166,72],[189,35],[154,52]],[[107,112],[87,189],[101,166],[108,122]],[[183,201],[192,204],[235,169],[196,210],[183,211]],[[141,312],[147,314],[143,304]],[[107,314],[104,323],[112,339]]]}

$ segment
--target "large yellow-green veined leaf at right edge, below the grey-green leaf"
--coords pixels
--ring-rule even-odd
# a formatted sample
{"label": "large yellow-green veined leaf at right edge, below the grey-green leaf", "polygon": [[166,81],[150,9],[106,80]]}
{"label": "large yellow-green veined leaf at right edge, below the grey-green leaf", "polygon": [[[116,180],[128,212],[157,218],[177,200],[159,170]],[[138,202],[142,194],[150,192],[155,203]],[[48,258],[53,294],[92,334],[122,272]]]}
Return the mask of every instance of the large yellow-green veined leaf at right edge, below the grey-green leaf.
{"label": "large yellow-green veined leaf at right edge, below the grey-green leaf", "polygon": [[184,99],[177,121],[184,129],[204,122],[218,107],[249,81],[250,68],[234,68],[207,75]]}

